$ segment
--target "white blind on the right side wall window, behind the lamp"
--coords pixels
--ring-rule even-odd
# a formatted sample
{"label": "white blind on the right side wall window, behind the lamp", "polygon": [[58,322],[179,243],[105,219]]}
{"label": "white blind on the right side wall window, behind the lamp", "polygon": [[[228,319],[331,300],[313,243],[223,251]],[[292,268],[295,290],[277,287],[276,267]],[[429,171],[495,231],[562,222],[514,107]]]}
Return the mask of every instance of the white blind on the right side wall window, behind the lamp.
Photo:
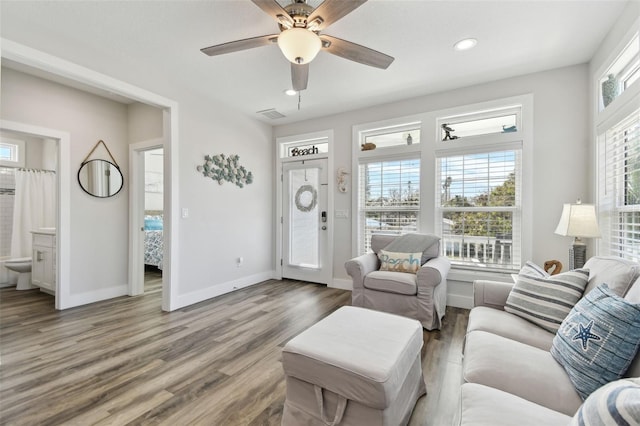
{"label": "white blind on the right side wall window, behind the lamp", "polygon": [[600,251],[640,261],[640,109],[607,130],[600,146]]}

